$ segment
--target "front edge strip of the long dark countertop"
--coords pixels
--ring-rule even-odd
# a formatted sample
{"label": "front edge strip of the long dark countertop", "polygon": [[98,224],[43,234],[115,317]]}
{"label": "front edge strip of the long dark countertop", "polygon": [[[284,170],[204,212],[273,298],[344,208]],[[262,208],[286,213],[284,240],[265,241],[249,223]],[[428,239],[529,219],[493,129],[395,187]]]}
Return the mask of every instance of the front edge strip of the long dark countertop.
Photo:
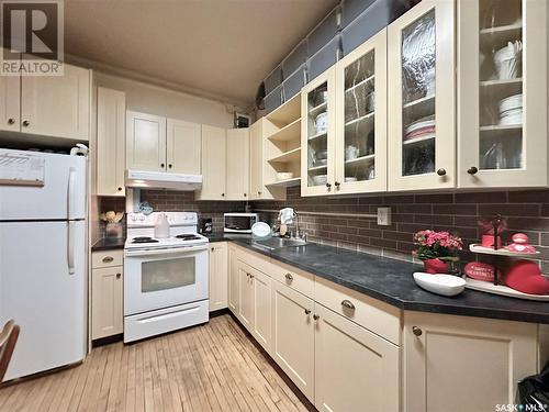
{"label": "front edge strip of the long dark countertop", "polygon": [[[504,320],[504,321],[549,324],[548,315],[544,314],[544,313],[537,313],[537,312],[516,311],[516,309],[505,310],[505,309],[498,309],[498,308],[488,309],[488,308],[478,308],[478,307],[452,305],[450,302],[445,304],[441,302],[428,303],[428,302],[412,302],[412,301],[402,300],[400,298],[394,298],[394,297],[386,294],[386,293],[381,293],[379,291],[368,289],[368,288],[365,288],[362,286],[358,286],[358,285],[350,282],[350,281],[347,281],[340,277],[323,272],[318,269],[311,268],[306,265],[300,265],[299,263],[296,263],[294,260],[285,259],[281,256],[274,255],[268,249],[255,247],[255,246],[249,244],[249,238],[248,240],[244,240],[244,238],[238,240],[238,238],[228,238],[228,237],[225,238],[223,236],[221,236],[221,237],[222,238],[216,238],[214,242],[234,242],[235,244],[243,246],[248,250],[256,252],[260,255],[267,256],[267,257],[272,258],[277,261],[281,261],[283,264],[296,267],[299,269],[302,269],[302,270],[307,271],[312,275],[318,276],[318,277],[326,279],[328,281],[333,281],[336,285],[340,285],[345,288],[355,290],[359,293],[363,293],[363,294],[369,296],[373,299],[378,299],[380,301],[389,303],[389,304],[391,304],[395,308],[399,308],[401,310],[404,310],[404,311],[417,311],[417,312],[428,312],[428,313],[452,314],[452,315],[458,315],[458,316],[497,319],[497,320]],[[389,257],[385,257],[385,258],[391,259]],[[479,293],[483,293],[483,292],[479,292]],[[448,299],[451,299],[451,298],[448,298]],[[539,302],[539,303],[541,303],[541,302]]]}

